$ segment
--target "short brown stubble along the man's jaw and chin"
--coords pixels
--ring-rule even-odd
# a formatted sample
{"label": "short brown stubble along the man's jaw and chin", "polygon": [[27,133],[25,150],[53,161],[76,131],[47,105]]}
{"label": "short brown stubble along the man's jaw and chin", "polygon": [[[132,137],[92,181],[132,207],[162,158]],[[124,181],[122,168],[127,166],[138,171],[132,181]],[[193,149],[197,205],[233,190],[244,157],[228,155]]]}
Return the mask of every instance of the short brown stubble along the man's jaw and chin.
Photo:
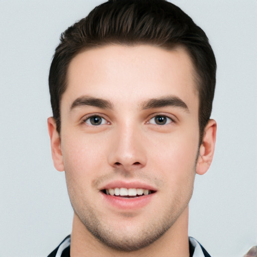
{"label": "short brown stubble along the man's jaw and chin", "polygon": [[[77,211],[74,207],[73,209],[86,229],[99,242],[118,251],[136,251],[158,240],[171,228],[180,214],[188,206],[192,192],[193,188],[192,191],[188,192],[186,195],[186,199],[181,197],[181,195],[185,197],[184,192],[181,192],[177,199],[173,199],[173,202],[170,203],[168,208],[164,206],[165,209],[162,212],[162,216],[157,214],[151,222],[142,224],[142,226],[139,226],[133,233],[126,233],[126,227],[120,227],[119,231],[117,231],[117,229],[106,225],[104,221],[98,218],[100,216],[97,211],[87,202],[83,204],[83,206],[86,206],[86,209],[77,208]],[[124,224],[125,226],[129,226],[126,222],[124,222]]]}

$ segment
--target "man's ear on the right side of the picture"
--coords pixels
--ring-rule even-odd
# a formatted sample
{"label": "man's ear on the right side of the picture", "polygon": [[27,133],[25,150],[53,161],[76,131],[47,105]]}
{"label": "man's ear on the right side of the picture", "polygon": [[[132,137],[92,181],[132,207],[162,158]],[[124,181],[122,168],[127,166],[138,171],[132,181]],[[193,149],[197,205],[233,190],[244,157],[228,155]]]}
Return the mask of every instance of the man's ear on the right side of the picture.
{"label": "man's ear on the right side of the picture", "polygon": [[196,173],[203,175],[209,169],[216,143],[217,123],[210,119],[204,129],[202,144],[199,148],[199,156],[196,164]]}

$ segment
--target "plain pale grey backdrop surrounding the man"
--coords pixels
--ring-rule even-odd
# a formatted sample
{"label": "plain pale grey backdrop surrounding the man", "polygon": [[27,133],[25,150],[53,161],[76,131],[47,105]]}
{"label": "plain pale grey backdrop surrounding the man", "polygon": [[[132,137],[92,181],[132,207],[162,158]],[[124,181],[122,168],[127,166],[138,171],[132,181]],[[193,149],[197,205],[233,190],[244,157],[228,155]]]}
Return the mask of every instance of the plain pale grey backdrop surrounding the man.
{"label": "plain pale grey backdrop surrounding the man", "polygon": [[[52,164],[48,71],[59,35],[102,1],[0,0],[0,256],[47,256],[70,233],[64,173]],[[213,256],[257,243],[257,1],[173,1],[216,54],[216,152],[197,176],[189,234]]]}

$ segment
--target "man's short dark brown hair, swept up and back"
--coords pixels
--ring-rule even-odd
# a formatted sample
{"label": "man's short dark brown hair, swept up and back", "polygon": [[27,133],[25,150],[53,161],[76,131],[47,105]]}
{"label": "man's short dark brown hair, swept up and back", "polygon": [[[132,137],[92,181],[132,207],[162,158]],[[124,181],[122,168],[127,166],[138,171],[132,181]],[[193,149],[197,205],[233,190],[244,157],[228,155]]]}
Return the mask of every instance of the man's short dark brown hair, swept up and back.
{"label": "man's short dark brown hair, swept up and back", "polygon": [[59,133],[60,100],[67,88],[67,69],[79,52],[108,44],[148,44],[165,49],[182,46],[195,68],[201,143],[212,110],[216,61],[204,31],[179,7],[165,0],[109,0],[69,27],[60,41],[49,73],[51,105]]}

